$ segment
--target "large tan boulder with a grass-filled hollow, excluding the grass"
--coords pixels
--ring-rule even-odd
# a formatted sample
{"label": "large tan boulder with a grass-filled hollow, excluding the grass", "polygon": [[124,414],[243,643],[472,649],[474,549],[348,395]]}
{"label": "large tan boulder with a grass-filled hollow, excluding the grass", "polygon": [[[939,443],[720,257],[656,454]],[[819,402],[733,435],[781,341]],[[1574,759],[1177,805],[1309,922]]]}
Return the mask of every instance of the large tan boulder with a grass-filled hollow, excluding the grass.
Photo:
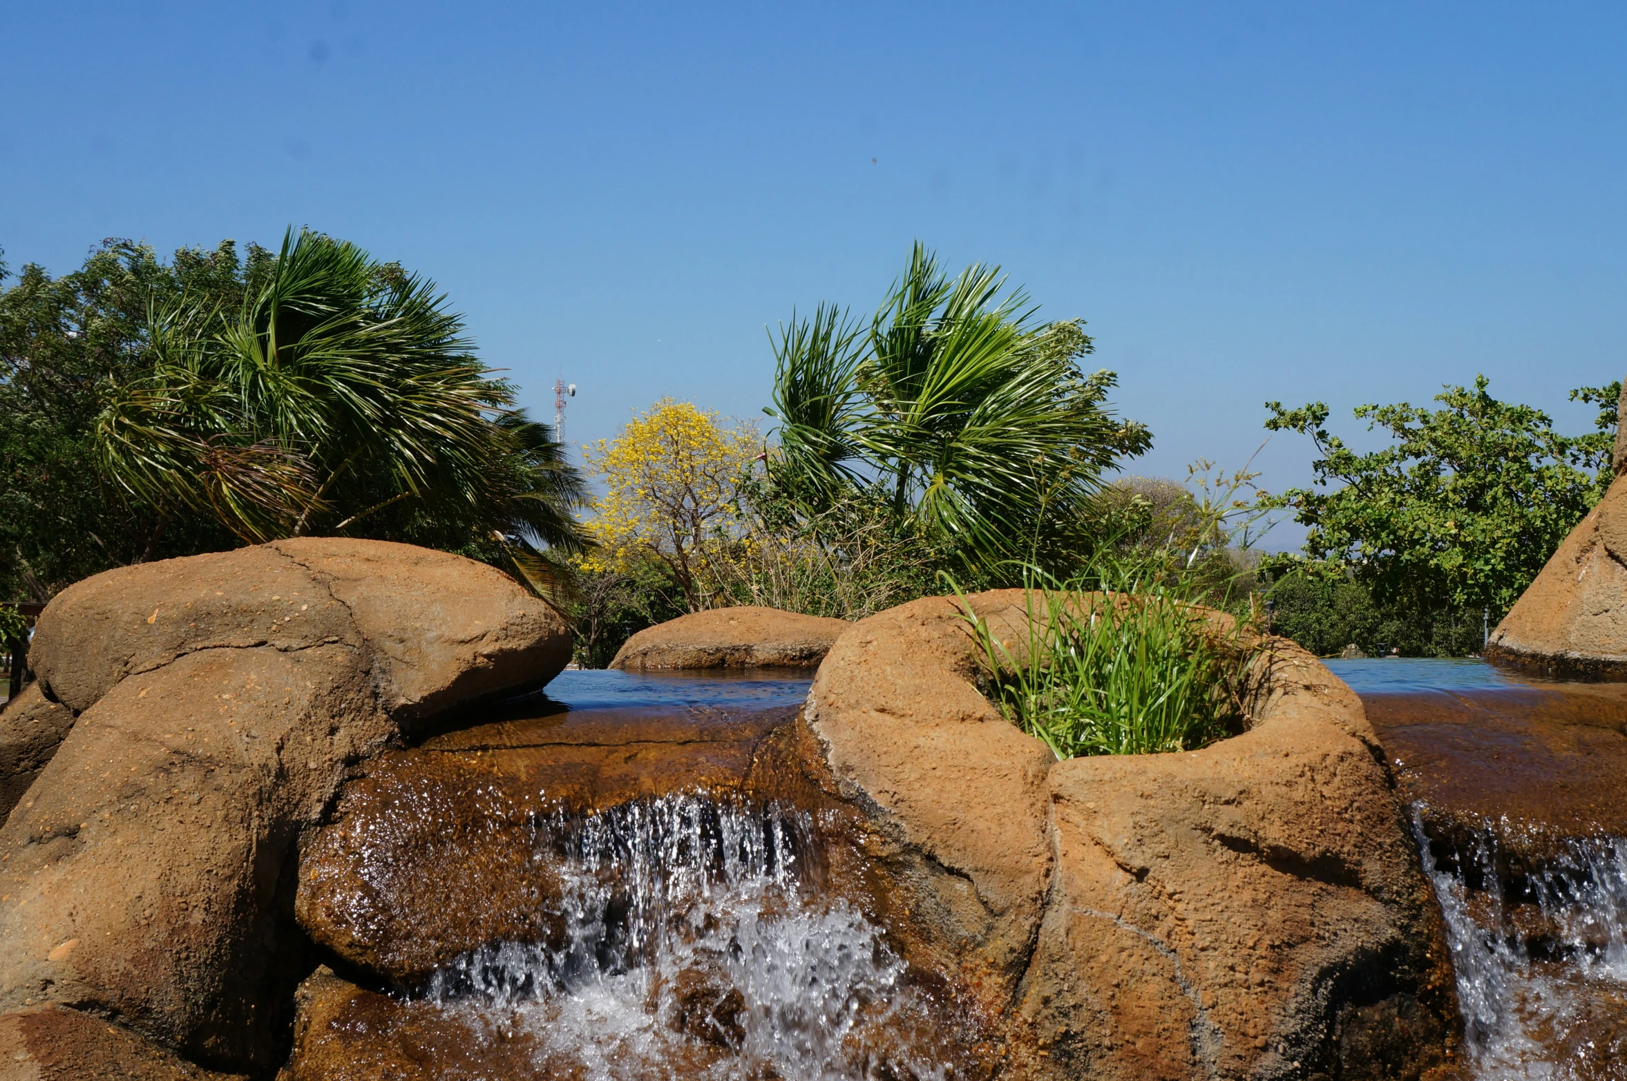
{"label": "large tan boulder with a grass-filled hollow, excluding the grass", "polygon": [[[997,634],[1017,590],[971,600]],[[1014,640],[1022,640],[1014,636]],[[895,931],[1009,1032],[1017,1076],[1419,1078],[1456,1001],[1360,701],[1292,642],[1250,730],[1053,762],[975,686],[952,601],[854,624],[807,718],[911,896]]]}

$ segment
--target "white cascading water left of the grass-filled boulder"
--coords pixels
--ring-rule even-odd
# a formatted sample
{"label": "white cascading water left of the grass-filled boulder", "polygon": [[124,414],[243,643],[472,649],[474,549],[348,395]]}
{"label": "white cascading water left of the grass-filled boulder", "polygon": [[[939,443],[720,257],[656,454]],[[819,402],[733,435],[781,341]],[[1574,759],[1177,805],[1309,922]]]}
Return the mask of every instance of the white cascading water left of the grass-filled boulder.
{"label": "white cascading water left of the grass-filled boulder", "polygon": [[443,967],[423,998],[539,1076],[940,1079],[937,1005],[853,904],[818,889],[815,821],[704,795],[539,826],[563,935]]}

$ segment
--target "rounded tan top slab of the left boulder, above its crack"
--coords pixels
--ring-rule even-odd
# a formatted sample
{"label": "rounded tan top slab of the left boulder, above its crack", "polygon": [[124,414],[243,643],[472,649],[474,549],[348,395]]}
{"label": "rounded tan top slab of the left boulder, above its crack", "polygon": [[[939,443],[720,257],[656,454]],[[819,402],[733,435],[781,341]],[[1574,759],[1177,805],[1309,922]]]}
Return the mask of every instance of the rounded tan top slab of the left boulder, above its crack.
{"label": "rounded tan top slab of the left boulder, above its crack", "polygon": [[552,608],[508,575],[412,545],[299,538],[120,567],[63,590],[29,660],[49,697],[89,709],[132,673],[203,649],[366,652],[379,704],[412,723],[569,662]]}

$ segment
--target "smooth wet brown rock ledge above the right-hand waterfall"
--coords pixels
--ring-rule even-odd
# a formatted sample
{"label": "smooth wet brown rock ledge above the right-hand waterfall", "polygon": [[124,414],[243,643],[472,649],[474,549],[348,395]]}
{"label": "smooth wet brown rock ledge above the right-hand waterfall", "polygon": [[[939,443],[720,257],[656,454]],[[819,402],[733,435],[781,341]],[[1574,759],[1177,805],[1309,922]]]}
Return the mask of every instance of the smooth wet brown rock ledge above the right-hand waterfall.
{"label": "smooth wet brown rock ledge above the right-hand waterfall", "polygon": [[1627,686],[1370,694],[1373,722],[1437,858],[1482,829],[1503,876],[1539,875],[1568,842],[1627,836]]}

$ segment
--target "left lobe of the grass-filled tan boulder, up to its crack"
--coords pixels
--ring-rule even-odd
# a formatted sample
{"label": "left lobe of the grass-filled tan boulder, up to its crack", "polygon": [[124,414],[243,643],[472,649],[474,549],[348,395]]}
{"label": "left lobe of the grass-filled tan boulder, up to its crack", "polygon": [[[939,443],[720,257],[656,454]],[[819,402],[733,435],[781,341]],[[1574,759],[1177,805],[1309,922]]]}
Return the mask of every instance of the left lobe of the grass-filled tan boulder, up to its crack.
{"label": "left lobe of the grass-filled tan boulder, up to its crack", "polygon": [[955,972],[997,1013],[1023,977],[1049,889],[1053,758],[983,697],[975,671],[952,601],[901,605],[836,640],[807,718],[843,797],[893,845],[893,878],[932,928],[927,967]]}

